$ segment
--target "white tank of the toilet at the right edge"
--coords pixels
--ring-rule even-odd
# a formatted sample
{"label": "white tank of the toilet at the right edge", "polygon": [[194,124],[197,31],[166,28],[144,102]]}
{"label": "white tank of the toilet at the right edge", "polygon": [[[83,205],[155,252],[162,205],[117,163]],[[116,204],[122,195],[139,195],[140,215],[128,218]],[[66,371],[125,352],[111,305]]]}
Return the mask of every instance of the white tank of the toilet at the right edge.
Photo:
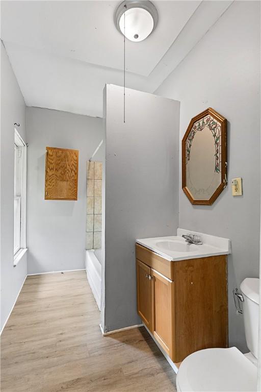
{"label": "white tank of the toilet at the right edge", "polygon": [[257,358],[258,318],[259,318],[259,279],[246,278],[240,285],[244,302],[243,315],[247,347]]}

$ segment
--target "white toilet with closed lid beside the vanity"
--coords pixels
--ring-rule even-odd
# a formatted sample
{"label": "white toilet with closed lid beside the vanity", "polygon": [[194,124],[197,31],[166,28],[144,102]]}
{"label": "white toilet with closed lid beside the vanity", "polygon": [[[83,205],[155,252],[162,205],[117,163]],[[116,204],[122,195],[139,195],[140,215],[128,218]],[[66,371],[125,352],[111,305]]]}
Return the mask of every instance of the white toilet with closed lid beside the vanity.
{"label": "white toilet with closed lid beside the vanity", "polygon": [[259,279],[241,283],[247,347],[197,351],[182,361],[176,377],[178,392],[252,392],[257,385]]}

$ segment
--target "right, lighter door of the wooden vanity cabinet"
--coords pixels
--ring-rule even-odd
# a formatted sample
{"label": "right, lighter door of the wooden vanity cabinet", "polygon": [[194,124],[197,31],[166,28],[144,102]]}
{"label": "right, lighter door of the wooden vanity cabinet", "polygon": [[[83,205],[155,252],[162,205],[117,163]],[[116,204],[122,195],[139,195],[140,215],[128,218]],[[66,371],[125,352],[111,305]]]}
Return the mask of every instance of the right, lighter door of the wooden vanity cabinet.
{"label": "right, lighter door of the wooden vanity cabinet", "polygon": [[154,269],[151,275],[152,333],[174,362],[174,282]]}

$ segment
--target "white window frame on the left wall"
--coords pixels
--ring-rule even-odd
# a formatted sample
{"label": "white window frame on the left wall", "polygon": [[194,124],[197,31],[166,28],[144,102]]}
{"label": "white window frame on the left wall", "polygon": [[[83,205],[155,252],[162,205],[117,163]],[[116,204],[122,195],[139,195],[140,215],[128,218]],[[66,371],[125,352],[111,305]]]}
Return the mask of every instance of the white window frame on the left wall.
{"label": "white window frame on the left wall", "polygon": [[[19,211],[19,215],[20,215],[19,229],[20,230],[18,230],[18,232],[19,232],[20,241],[19,241],[19,247],[14,249],[14,266],[20,260],[22,255],[27,251],[27,241],[26,241],[27,145],[25,144],[25,142],[23,141],[19,132],[15,128],[14,129],[14,150],[15,150],[15,153],[17,152],[17,148],[20,148],[20,151],[21,151],[21,173],[20,173],[21,192],[20,192],[20,196],[17,195],[16,189],[15,189],[16,181],[14,181],[14,201],[19,200],[18,209],[20,210]],[[15,159],[14,159],[14,162],[16,162]],[[17,176],[16,164],[14,165],[14,179],[15,179],[15,176]],[[14,227],[14,233],[15,233],[15,227]]]}

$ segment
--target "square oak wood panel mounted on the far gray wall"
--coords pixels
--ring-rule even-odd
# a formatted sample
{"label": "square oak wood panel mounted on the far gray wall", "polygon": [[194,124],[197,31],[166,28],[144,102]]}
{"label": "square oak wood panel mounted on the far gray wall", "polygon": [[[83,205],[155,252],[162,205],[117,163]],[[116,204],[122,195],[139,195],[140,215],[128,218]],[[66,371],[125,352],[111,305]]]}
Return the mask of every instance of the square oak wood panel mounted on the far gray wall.
{"label": "square oak wood panel mounted on the far gray wall", "polygon": [[45,200],[77,200],[79,151],[46,147]]}

